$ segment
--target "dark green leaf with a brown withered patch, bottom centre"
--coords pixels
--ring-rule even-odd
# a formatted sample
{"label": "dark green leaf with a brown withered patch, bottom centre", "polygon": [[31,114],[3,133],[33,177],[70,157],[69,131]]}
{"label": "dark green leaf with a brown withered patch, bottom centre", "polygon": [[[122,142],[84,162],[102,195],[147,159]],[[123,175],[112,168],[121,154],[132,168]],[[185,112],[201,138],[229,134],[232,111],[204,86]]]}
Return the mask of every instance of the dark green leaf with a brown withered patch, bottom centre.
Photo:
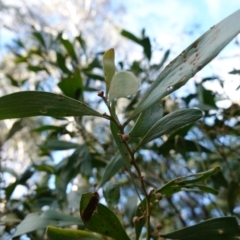
{"label": "dark green leaf with a brown withered patch, bottom centre", "polygon": [[[89,202],[91,202],[92,196],[92,193],[85,193],[82,195],[80,201],[81,217],[83,216],[86,208],[89,208]],[[92,207],[95,207],[95,209],[90,219],[84,222],[85,226],[90,231],[109,236],[116,240],[129,240],[129,237],[118,217],[109,208],[101,203],[97,204],[97,206],[94,205],[95,203],[93,203]]]}

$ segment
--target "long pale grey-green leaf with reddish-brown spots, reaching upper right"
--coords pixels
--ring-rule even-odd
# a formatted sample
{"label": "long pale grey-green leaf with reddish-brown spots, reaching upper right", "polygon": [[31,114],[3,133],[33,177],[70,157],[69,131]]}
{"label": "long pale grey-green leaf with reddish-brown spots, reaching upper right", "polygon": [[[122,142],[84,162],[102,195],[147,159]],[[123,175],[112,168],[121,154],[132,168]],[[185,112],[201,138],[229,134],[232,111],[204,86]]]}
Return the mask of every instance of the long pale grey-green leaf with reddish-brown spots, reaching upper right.
{"label": "long pale grey-green leaf with reddish-brown spots, reaching upper right", "polygon": [[[160,73],[129,120],[183,86],[240,32],[240,10],[213,26]],[[128,120],[128,121],[129,121]]]}

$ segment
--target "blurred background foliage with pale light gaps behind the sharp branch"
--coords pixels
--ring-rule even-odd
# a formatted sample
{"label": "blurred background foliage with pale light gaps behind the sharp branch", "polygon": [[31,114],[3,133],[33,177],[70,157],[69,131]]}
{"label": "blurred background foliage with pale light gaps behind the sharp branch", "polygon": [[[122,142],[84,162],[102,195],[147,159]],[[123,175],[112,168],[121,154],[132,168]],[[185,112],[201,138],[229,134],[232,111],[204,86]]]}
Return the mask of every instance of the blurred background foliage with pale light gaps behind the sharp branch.
{"label": "blurred background foliage with pale light gaps behind the sharp branch", "polygon": [[[101,61],[104,51],[115,47],[117,70],[130,70],[141,82],[134,97],[117,102],[119,116],[129,116],[151,79],[170,61],[171,49],[162,49],[161,59],[153,62],[152,55],[160,47],[145,30],[135,36],[114,26],[114,13],[124,16],[122,6],[116,7],[109,0],[87,2],[72,0],[59,5],[56,1],[51,7],[33,4],[25,8],[0,2],[1,18],[10,14],[8,27],[18,32],[0,59],[1,96],[28,90],[61,93],[104,113],[106,109],[97,97],[97,92],[104,90]],[[138,59],[128,58],[134,52],[129,46],[134,44],[138,56],[142,54]],[[230,74],[239,72],[233,69]],[[206,182],[218,195],[185,189],[159,202],[152,222],[161,222],[166,232],[212,217],[240,217],[240,108],[230,102],[223,88],[222,94],[207,88],[223,86],[224,80],[216,74],[205,76],[192,80],[187,94],[180,89],[166,97],[164,115],[188,107],[198,107],[205,115],[201,121],[152,141],[137,155],[149,189],[216,165],[223,168]],[[226,99],[227,106],[216,104]],[[19,221],[29,213],[57,210],[79,217],[80,196],[94,191],[105,174],[116,152],[113,142],[108,122],[93,117],[1,121],[2,238],[11,238]],[[138,199],[126,170],[115,174],[99,193],[101,202],[133,233]],[[16,239],[43,239],[44,231]]]}

